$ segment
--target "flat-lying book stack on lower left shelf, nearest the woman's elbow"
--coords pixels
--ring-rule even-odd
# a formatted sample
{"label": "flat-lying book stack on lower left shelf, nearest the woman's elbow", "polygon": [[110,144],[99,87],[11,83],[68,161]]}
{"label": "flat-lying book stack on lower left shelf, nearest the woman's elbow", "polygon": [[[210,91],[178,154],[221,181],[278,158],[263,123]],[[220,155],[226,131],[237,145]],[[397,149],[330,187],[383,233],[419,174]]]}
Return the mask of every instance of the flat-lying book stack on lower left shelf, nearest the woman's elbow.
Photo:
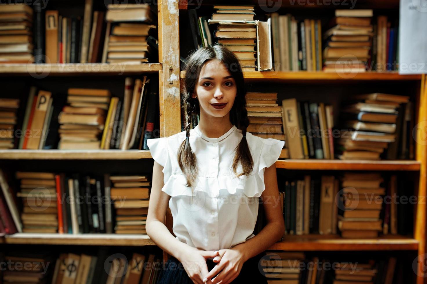
{"label": "flat-lying book stack on lower left shelf, nearest the woman's elbow", "polygon": [[149,186],[146,176],[110,176],[116,211],[116,234],[146,234]]}

